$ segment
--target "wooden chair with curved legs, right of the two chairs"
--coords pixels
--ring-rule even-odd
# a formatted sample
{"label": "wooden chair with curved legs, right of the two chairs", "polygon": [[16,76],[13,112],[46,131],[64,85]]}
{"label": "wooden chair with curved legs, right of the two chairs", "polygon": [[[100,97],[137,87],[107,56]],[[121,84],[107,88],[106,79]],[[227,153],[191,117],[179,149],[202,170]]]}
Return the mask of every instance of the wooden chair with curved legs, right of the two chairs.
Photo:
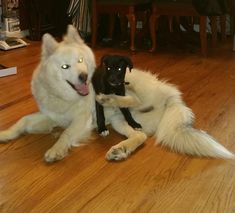
{"label": "wooden chair with curved legs, right of the two chairs", "polygon": [[[200,43],[201,53],[203,56],[207,55],[207,32],[206,21],[207,16],[200,15],[194,8],[191,0],[153,0],[152,2],[152,14],[150,16],[150,34],[152,40],[151,52],[156,50],[156,28],[158,25],[158,18],[161,15],[172,16],[192,16],[199,18],[200,25]],[[211,31],[212,31],[212,46],[217,42],[217,16],[210,16],[211,19]],[[221,16],[221,34],[222,39],[225,39],[225,16]]]}

